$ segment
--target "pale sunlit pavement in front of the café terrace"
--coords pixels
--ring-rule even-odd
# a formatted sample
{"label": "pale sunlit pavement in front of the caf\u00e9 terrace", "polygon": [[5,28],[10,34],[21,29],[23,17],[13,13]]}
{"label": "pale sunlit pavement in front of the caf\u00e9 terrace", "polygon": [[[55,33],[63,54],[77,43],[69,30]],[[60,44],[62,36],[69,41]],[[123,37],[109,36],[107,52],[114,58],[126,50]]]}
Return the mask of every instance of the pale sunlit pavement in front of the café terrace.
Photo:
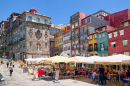
{"label": "pale sunlit pavement in front of the caf\u00e9 terrace", "polygon": [[72,79],[59,80],[60,83],[53,83],[53,81],[32,81],[33,76],[23,73],[21,68],[18,68],[18,64],[15,63],[13,74],[9,76],[9,70],[6,67],[7,60],[3,60],[4,64],[0,66],[0,73],[5,78],[5,86],[96,86],[87,82],[77,81],[74,83]]}

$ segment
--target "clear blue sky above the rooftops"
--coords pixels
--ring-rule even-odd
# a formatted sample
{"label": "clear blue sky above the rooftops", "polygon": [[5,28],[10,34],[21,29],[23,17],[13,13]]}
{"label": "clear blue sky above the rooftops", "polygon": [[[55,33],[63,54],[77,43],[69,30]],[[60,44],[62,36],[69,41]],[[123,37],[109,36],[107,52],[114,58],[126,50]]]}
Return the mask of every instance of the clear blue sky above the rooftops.
{"label": "clear blue sky above the rooftops", "polygon": [[6,20],[11,13],[22,13],[30,8],[37,13],[51,17],[55,25],[69,23],[70,16],[81,11],[88,15],[99,10],[115,13],[130,9],[130,0],[0,0],[0,21]]}

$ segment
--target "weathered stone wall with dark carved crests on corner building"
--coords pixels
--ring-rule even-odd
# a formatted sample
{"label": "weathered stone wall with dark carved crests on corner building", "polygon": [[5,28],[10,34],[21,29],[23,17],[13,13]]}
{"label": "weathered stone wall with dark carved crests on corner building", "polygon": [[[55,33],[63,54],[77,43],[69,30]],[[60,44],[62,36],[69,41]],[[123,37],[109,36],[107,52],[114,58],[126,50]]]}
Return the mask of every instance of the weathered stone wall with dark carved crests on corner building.
{"label": "weathered stone wall with dark carved crests on corner building", "polygon": [[29,57],[49,57],[49,25],[26,23],[26,53]]}

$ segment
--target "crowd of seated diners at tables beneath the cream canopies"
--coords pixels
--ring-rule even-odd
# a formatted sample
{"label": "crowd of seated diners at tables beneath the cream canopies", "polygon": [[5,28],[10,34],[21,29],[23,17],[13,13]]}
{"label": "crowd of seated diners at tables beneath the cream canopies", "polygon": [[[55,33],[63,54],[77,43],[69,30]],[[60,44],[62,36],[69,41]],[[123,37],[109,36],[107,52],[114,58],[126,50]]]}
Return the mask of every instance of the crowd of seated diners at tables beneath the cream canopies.
{"label": "crowd of seated diners at tables beneath the cream canopies", "polygon": [[[43,71],[41,71],[43,70]],[[38,75],[39,76],[50,76],[51,79],[54,79],[55,77],[55,71],[57,68],[39,68],[38,69]],[[110,69],[109,67],[105,67],[101,65],[97,68],[75,68],[75,69],[66,69],[64,66],[63,68],[58,68],[60,71],[60,79],[61,78],[80,78],[80,77],[88,77],[92,78],[93,81],[100,83],[101,85],[106,84],[106,81],[111,80],[112,77],[115,77],[117,81],[123,80],[123,78],[130,78],[130,70],[128,68],[122,68],[120,70],[117,70],[116,68]],[[42,72],[42,74],[41,74]],[[114,78],[113,78],[114,79]],[[105,83],[104,83],[105,82]]]}

